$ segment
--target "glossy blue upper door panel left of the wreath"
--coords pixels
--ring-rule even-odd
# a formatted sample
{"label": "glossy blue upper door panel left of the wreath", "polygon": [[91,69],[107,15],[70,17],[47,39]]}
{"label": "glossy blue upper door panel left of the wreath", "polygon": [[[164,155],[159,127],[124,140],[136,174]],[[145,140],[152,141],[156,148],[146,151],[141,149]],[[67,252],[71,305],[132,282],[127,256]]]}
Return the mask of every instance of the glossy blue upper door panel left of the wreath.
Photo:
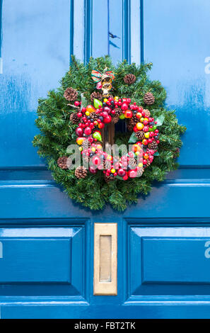
{"label": "glossy blue upper door panel left of the wreath", "polygon": [[31,141],[37,98],[69,66],[69,0],[6,0],[2,9],[0,166],[43,166]]}

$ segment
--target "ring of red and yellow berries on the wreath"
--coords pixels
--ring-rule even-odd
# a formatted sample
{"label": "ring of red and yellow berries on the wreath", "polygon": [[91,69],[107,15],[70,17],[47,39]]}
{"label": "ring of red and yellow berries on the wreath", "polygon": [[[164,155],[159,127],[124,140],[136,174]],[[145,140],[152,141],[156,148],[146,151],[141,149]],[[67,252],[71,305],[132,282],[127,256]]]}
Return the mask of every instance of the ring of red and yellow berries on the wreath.
{"label": "ring of red and yellow berries on the wreath", "polygon": [[[78,107],[81,102],[76,101],[74,104]],[[122,109],[120,118],[135,119],[134,132],[143,130],[145,133],[145,138],[133,145],[132,152],[122,156],[120,159],[103,152],[103,147],[100,145],[100,129],[112,121],[116,108]],[[144,108],[137,106],[136,103],[132,103],[130,98],[117,97],[105,99],[103,105],[97,109],[92,105],[88,105],[78,111],[77,116],[80,123],[76,128],[76,135],[78,136],[76,142],[81,146],[81,154],[90,164],[89,171],[91,173],[103,170],[106,176],[119,176],[124,180],[141,176],[144,169],[153,162],[153,155],[156,152],[153,147],[156,147],[155,145],[159,143],[156,122],[154,118],[146,115],[148,115],[148,112],[146,113]],[[83,145],[85,140],[88,145]],[[153,145],[153,142],[156,142],[156,144]],[[130,159],[134,161],[134,159],[139,157],[139,154],[141,154],[142,163],[138,162],[137,164],[136,161],[136,165],[134,163],[130,165]]]}

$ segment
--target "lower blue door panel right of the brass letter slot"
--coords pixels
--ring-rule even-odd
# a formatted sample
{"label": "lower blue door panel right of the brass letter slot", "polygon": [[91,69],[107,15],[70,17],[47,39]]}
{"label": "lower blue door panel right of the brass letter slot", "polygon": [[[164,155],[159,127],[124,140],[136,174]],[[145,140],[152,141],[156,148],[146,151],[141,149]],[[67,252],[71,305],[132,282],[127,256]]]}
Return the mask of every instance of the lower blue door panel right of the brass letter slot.
{"label": "lower blue door panel right of the brass letter slot", "polygon": [[132,225],[128,232],[129,300],[209,295],[209,227]]}

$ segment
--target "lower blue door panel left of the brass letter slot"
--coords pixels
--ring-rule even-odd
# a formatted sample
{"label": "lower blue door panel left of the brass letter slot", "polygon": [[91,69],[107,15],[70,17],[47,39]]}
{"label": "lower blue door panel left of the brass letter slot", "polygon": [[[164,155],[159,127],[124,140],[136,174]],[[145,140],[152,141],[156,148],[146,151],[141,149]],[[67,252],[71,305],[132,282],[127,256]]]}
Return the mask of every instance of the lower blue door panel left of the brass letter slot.
{"label": "lower blue door panel left of the brass letter slot", "polygon": [[83,300],[84,225],[0,230],[0,298],[4,295]]}

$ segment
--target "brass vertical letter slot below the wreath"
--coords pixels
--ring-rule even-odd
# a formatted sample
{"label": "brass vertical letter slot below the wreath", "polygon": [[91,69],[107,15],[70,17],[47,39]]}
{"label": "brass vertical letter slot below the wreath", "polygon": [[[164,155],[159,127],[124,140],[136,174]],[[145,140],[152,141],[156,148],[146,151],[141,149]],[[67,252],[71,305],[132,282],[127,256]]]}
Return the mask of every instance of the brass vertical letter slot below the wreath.
{"label": "brass vertical letter slot below the wreath", "polygon": [[94,225],[94,295],[117,295],[117,223]]}

